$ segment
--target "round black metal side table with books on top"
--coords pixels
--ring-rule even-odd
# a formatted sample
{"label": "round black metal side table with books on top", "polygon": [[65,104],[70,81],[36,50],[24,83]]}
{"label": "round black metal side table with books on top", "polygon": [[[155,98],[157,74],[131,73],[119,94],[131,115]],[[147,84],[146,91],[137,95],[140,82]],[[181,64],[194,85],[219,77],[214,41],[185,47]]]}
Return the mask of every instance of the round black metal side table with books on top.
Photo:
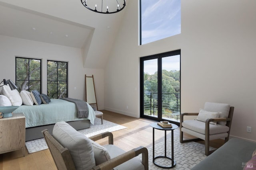
{"label": "round black metal side table with books on top", "polygon": [[[171,123],[172,124],[172,127],[161,127],[157,124],[157,122],[155,123],[151,123],[150,126],[153,127],[153,163],[154,165],[160,167],[160,168],[166,168],[166,169],[169,169],[169,168],[173,168],[175,165],[176,165],[176,161],[174,160],[174,151],[173,151],[173,130],[174,129],[177,129],[178,126]],[[164,131],[164,156],[156,156],[155,157],[155,129],[158,129],[158,130],[162,130]],[[172,157],[168,157],[166,156],[166,131],[172,131]],[[172,164],[171,166],[161,166],[159,164],[156,164],[155,160],[158,159],[158,158],[166,158],[166,159],[169,159],[172,161]]]}

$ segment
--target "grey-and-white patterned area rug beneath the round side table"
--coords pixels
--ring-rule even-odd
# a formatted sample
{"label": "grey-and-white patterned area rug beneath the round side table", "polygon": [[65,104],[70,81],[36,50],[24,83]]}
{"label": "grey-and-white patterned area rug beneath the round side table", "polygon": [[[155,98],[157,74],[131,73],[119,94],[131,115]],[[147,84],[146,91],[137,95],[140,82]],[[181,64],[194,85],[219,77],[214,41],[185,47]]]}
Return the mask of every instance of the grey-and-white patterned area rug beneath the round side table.
{"label": "grey-and-white patterned area rug beneath the round side table", "polygon": [[[148,167],[149,170],[162,170],[153,164],[152,158],[152,146],[148,147]],[[167,156],[171,157],[171,143],[167,141],[166,150]],[[180,138],[174,138],[174,160],[176,161],[176,166],[172,170],[190,170],[196,164],[204,160],[205,156],[205,145],[196,142],[180,143]],[[210,147],[210,150],[214,148]],[[155,157],[164,156],[164,141],[160,143],[155,143]],[[141,155],[139,155],[141,158]],[[157,159],[157,164],[161,166],[170,166],[172,164],[171,160],[168,159]]]}

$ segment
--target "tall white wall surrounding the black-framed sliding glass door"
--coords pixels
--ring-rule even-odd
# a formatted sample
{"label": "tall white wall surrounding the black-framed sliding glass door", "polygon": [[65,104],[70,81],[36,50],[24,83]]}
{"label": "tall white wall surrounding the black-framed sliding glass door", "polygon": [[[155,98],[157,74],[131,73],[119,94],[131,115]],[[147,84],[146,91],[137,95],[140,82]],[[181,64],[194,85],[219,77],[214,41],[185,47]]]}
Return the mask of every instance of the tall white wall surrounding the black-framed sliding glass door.
{"label": "tall white wall surrounding the black-framed sliding glass door", "polygon": [[230,135],[256,141],[256,1],[181,3],[181,34],[138,46],[138,2],[129,1],[105,70],[105,109],[139,117],[139,58],[181,49],[182,112],[228,103]]}

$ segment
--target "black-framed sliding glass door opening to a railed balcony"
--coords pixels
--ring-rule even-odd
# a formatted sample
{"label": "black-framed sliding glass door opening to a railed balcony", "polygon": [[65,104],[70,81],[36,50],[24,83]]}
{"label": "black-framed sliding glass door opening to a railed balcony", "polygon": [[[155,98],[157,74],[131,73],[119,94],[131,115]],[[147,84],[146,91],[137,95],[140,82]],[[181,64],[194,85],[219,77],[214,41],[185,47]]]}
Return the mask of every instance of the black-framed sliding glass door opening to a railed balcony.
{"label": "black-framed sliding glass door opening to a railed balcony", "polygon": [[140,116],[180,122],[180,50],[140,58]]}

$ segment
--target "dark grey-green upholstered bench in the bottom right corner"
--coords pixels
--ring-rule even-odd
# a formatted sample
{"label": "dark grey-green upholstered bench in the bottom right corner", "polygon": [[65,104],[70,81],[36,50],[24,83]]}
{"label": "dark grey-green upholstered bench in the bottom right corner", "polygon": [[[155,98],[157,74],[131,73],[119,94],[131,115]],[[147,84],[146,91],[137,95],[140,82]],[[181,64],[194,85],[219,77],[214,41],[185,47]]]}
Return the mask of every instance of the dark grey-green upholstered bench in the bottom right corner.
{"label": "dark grey-green upholstered bench in the bottom right corner", "polygon": [[191,170],[254,170],[255,149],[254,142],[232,138]]}

